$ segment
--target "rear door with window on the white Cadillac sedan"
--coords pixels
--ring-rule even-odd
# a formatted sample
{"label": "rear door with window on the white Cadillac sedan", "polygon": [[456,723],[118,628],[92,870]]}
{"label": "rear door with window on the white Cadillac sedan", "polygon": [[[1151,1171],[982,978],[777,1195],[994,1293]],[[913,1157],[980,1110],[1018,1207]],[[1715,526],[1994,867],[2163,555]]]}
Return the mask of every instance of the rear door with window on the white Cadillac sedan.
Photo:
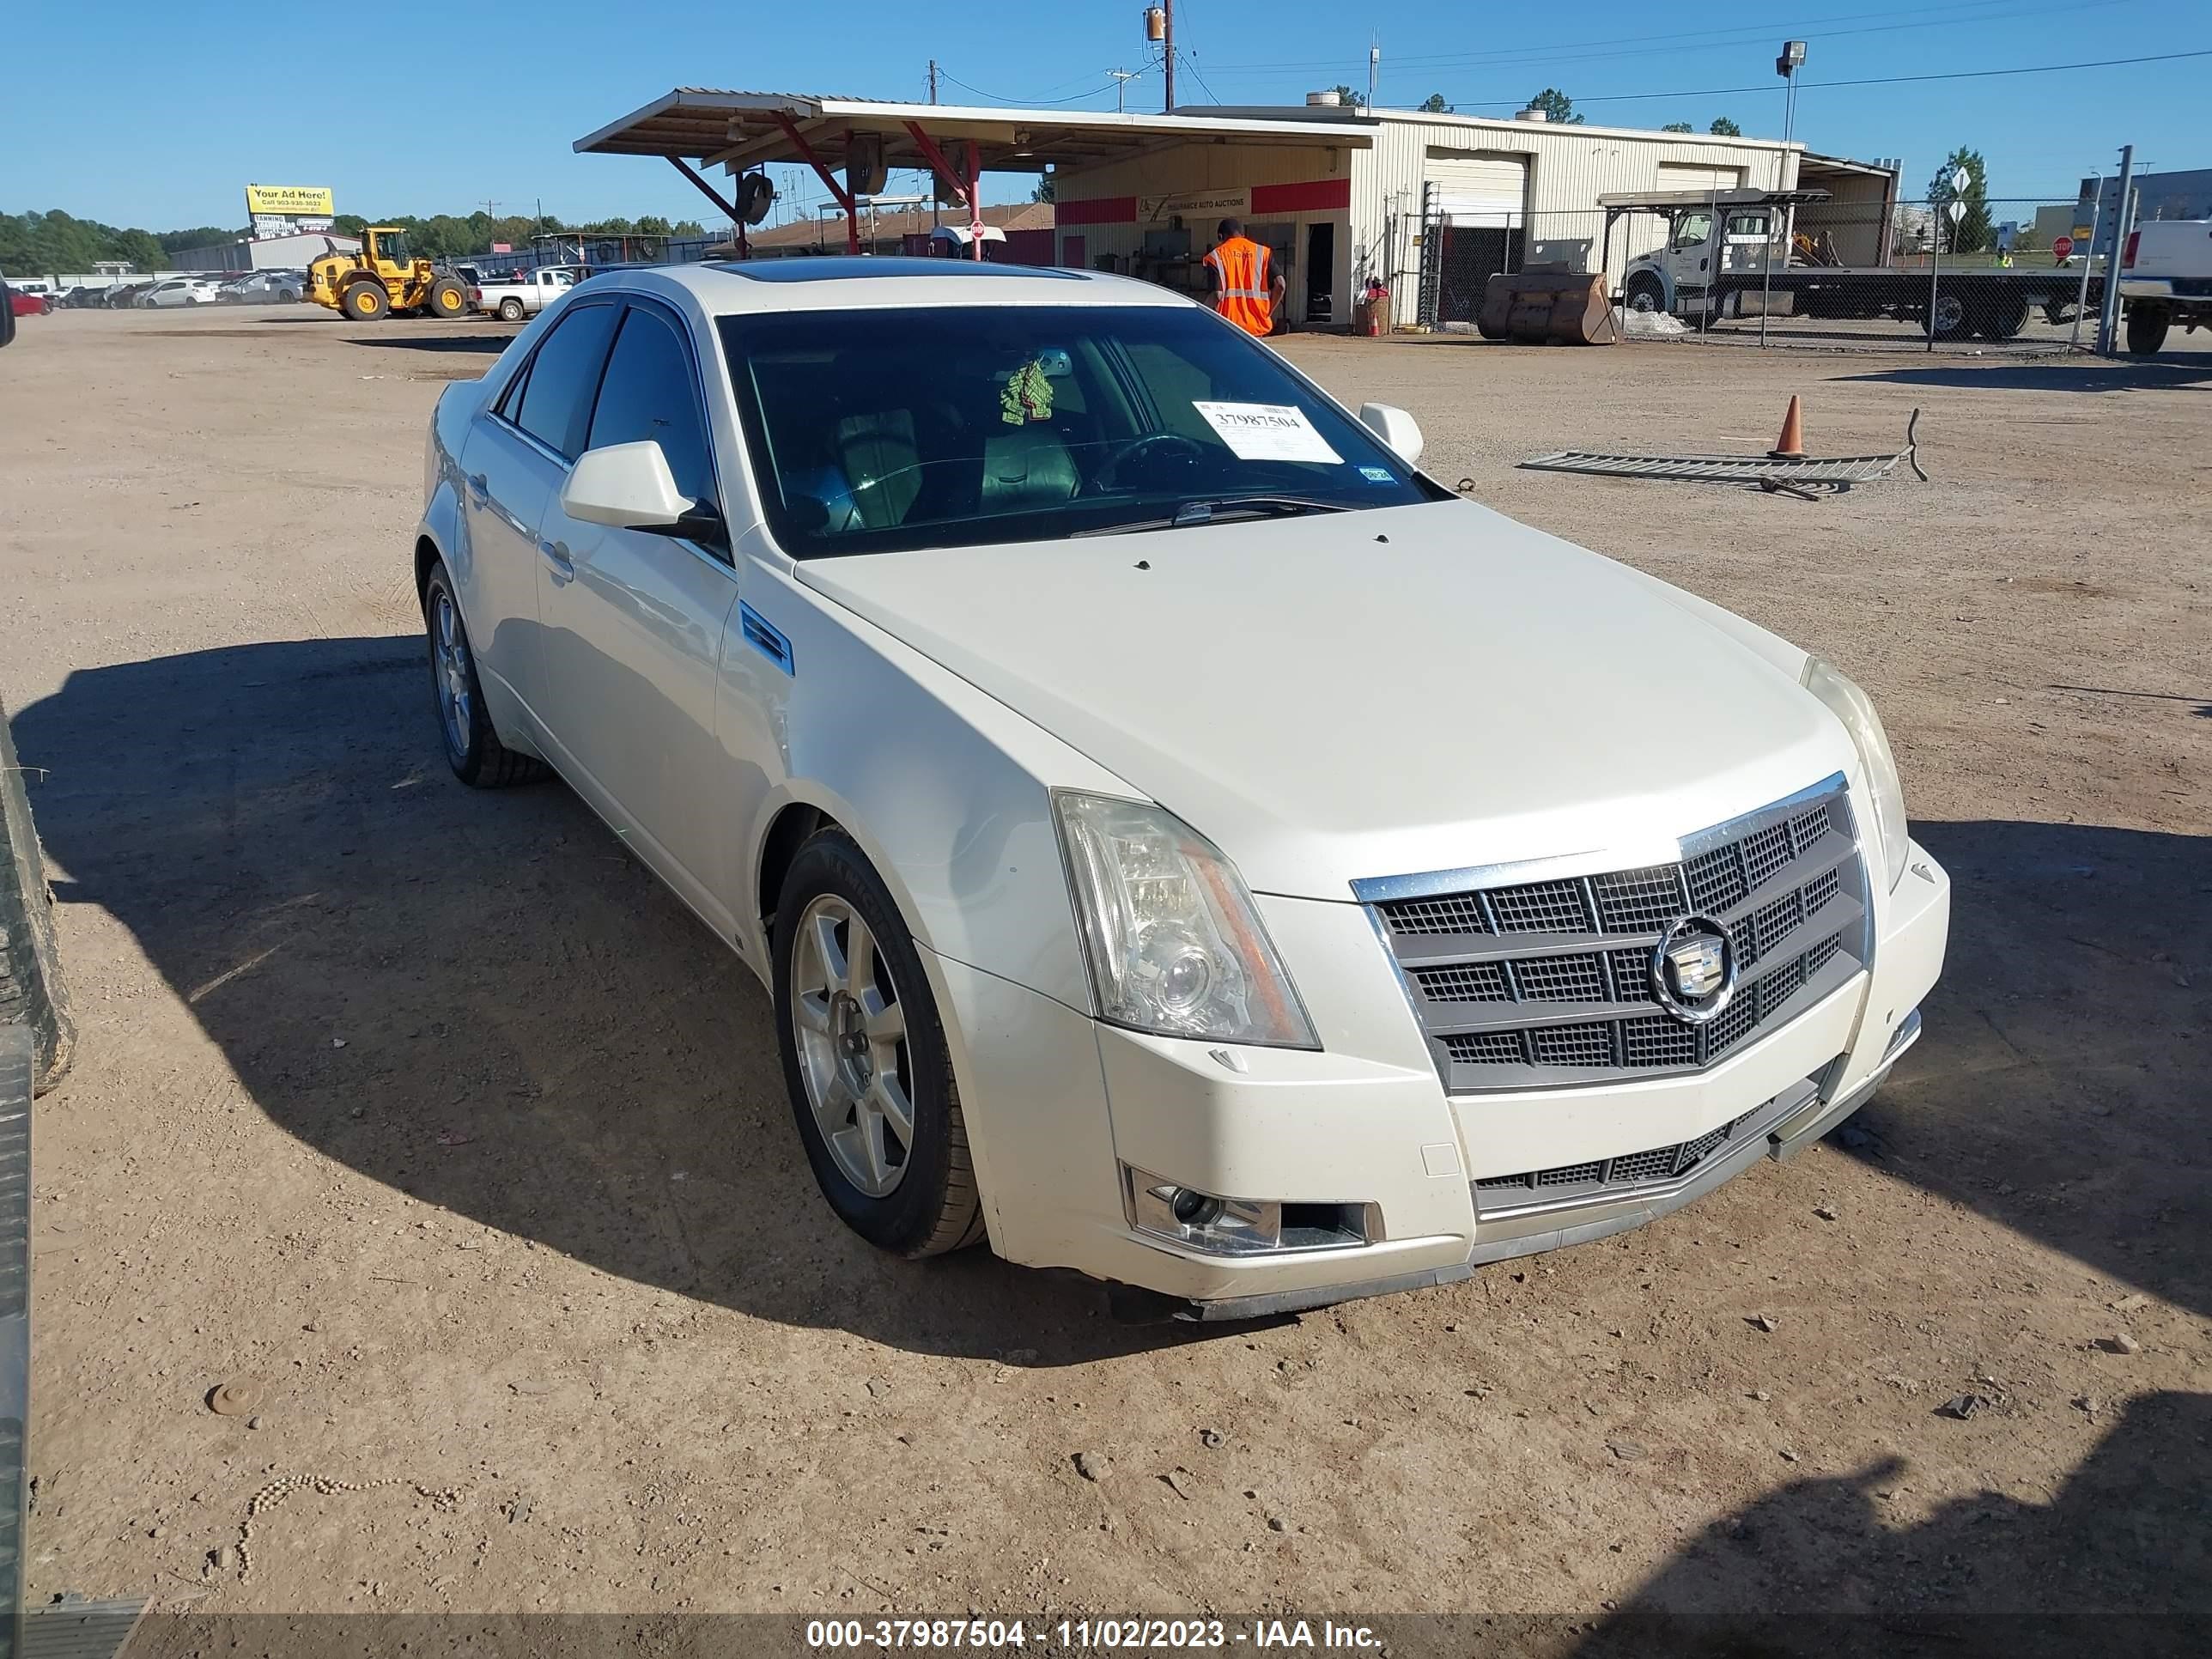
{"label": "rear door with window on the white Cadillac sedan", "polygon": [[498,679],[544,726],[538,564],[544,522],[568,462],[584,453],[615,305],[575,305],[538,343],[460,451],[467,568],[453,575],[469,608],[478,672]]}

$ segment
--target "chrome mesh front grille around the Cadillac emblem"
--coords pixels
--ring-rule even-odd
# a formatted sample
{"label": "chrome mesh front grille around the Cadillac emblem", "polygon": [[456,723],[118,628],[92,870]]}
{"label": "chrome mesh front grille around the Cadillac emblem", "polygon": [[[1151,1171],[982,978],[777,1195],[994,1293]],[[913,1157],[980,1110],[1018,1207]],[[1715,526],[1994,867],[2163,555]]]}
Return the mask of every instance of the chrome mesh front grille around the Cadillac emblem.
{"label": "chrome mesh front grille around the Cadillac emblem", "polygon": [[[1672,863],[1555,869],[1356,883],[1453,1093],[1701,1071],[1869,958],[1843,774],[1686,836]],[[1736,964],[1732,998],[1701,1024],[1652,984],[1659,940],[1683,916],[1719,922]]]}

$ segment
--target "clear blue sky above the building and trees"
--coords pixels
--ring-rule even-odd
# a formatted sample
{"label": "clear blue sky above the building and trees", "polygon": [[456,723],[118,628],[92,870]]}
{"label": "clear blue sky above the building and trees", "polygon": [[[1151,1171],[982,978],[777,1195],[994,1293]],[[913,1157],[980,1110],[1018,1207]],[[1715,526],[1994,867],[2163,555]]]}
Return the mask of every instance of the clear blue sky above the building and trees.
{"label": "clear blue sky above the building and trees", "polygon": [[[1336,0],[1181,0],[1181,102],[1301,102],[1314,86],[1367,80],[1367,18]],[[1590,122],[1661,126],[1714,115],[1778,137],[1785,35],[1809,40],[1796,135],[1816,150],[1902,155],[1922,186],[1955,144],[1989,157],[1993,197],[2070,199],[2110,168],[2212,166],[2203,84],[2212,58],[2053,75],[1905,86],[1820,82],[2066,64],[2212,46],[2201,0],[1778,0],[1772,20],[1666,31],[1683,15],[1628,0],[1584,0],[1491,20],[1464,0],[1400,0],[1389,15],[1380,104],[1442,93],[1464,113],[1504,115],[1551,84]],[[1002,20],[1029,15],[1031,29]],[[1690,13],[1694,15],[1694,13]],[[827,20],[836,27],[823,27]],[[1252,27],[1259,18],[1259,27]],[[1575,44],[1559,44],[1568,24]],[[11,9],[0,102],[0,208],[69,208],[166,230],[241,223],[241,186],[330,184],[363,215],[500,212],[542,201],[564,219],[706,204],[664,164],[580,157],[571,142],[677,84],[799,88],[945,102],[1113,108],[1108,69],[1146,71],[1130,108],[1159,108],[1139,0],[1055,0],[1022,13],[845,0],[730,7],[672,0],[617,9],[595,0],[369,11],[179,9],[155,0]],[[969,91],[975,88],[975,91]],[[1705,88],[1756,88],[1705,93]],[[982,93],[982,95],[978,95]],[[1677,97],[1624,97],[1681,93]],[[790,206],[821,197],[792,179]],[[896,186],[894,186],[896,188]],[[998,181],[995,197],[1026,195]]]}

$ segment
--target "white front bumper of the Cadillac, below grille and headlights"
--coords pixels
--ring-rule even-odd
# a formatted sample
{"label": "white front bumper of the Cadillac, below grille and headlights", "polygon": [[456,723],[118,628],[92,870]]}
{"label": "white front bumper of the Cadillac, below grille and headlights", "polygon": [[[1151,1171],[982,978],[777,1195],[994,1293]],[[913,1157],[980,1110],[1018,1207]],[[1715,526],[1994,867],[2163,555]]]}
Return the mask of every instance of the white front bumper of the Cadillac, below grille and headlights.
{"label": "white front bumper of the Cadillac, below grille and headlights", "polygon": [[[1876,902],[1871,973],[1705,1073],[1517,1095],[1444,1093],[1360,907],[1259,905],[1321,1053],[1148,1037],[925,956],[1002,1256],[1133,1285],[1152,1312],[1212,1321],[1451,1283],[1489,1261],[1641,1225],[1761,1155],[1818,1139],[1880,1088],[1942,969],[1951,885],[1913,845],[1896,894]],[[1721,1128],[1732,1133],[1679,1179],[1559,1203],[1482,1188]],[[1124,1168],[1221,1197],[1374,1206],[1380,1237],[1248,1256],[1188,1250],[1130,1225]]]}

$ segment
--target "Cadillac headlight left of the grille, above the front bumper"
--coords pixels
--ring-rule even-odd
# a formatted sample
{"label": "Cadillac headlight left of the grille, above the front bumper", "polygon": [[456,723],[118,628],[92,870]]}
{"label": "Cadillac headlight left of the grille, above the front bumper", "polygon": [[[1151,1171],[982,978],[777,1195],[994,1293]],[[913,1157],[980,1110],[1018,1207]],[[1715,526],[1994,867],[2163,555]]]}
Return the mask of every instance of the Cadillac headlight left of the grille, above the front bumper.
{"label": "Cadillac headlight left of the grille, above the front bumper", "polygon": [[1053,792],[1102,1020],[1164,1037],[1318,1048],[1243,880],[1144,801]]}

